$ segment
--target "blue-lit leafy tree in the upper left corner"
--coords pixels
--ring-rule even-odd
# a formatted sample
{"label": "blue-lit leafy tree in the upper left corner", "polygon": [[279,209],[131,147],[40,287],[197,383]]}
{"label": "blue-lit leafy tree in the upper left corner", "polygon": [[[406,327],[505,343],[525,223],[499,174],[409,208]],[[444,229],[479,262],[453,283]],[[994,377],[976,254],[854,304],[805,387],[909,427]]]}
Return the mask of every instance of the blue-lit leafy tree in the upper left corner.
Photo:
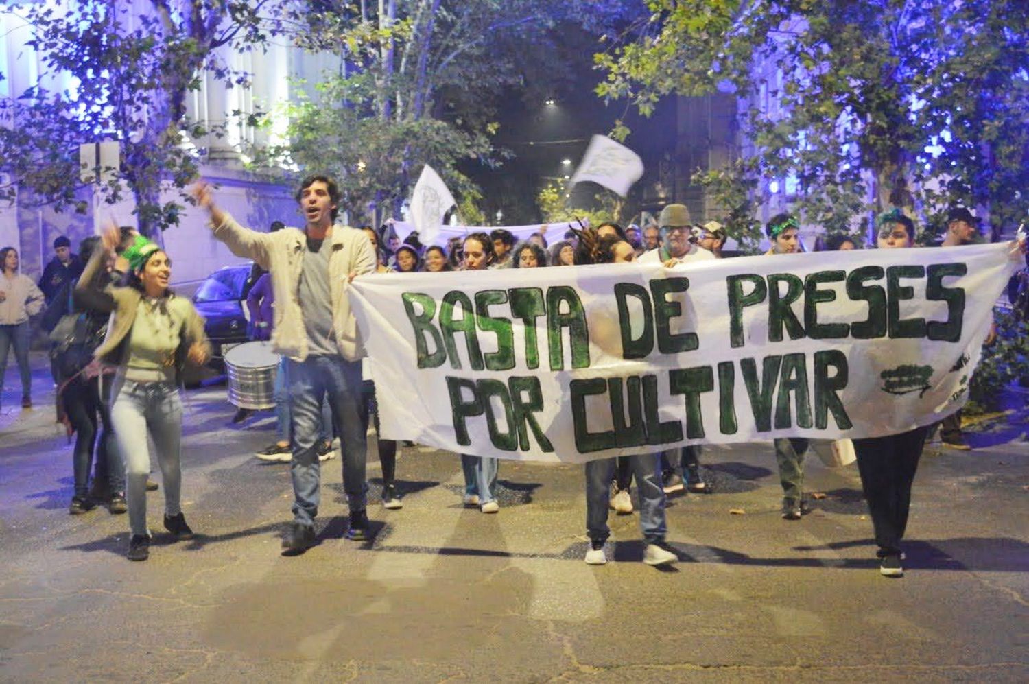
{"label": "blue-lit leafy tree in the upper left corner", "polygon": [[[186,98],[206,70],[242,82],[214,51],[226,44],[249,49],[268,26],[258,12],[270,0],[74,0],[17,6],[32,27],[28,44],[46,69],[65,72],[76,86],[51,93],[37,84],[0,103],[13,123],[0,129],[0,166],[11,183],[58,209],[76,203],[78,145],[100,139],[121,145],[120,168],[108,202],[122,183],[136,201],[139,228],[152,235],[178,223],[182,205],[162,202],[162,189],[182,189],[197,176],[186,141],[209,132],[186,117]],[[45,138],[40,139],[40,132]],[[10,187],[7,188],[10,190]]]}

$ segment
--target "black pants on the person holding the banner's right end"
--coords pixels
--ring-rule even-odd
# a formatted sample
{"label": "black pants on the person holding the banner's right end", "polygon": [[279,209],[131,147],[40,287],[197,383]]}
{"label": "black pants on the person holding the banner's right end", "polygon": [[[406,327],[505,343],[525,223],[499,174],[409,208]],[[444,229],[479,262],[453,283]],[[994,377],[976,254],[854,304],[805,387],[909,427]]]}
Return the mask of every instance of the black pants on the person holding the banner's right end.
{"label": "black pants on the person holding the banner's right end", "polygon": [[926,428],[854,440],[861,488],[868,502],[879,555],[900,552],[908,527],[911,487],[925,446]]}

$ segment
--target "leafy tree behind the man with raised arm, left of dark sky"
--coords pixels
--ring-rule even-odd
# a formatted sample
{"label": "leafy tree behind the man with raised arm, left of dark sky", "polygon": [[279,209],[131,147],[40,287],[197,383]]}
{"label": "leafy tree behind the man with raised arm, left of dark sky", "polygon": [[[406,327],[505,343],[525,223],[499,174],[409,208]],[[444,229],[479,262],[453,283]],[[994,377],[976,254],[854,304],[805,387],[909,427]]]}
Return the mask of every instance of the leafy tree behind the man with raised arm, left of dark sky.
{"label": "leafy tree behind the man with raised arm, left of dark sky", "polygon": [[289,14],[294,40],[339,55],[342,67],[315,97],[284,108],[288,140],[256,150],[256,168],[327,171],[368,220],[398,215],[425,164],[474,201],[458,164],[505,157],[491,140],[504,89],[545,92],[564,75],[552,66],[561,57],[555,27],[576,17],[579,30],[603,31],[620,11],[614,0],[309,0]]}

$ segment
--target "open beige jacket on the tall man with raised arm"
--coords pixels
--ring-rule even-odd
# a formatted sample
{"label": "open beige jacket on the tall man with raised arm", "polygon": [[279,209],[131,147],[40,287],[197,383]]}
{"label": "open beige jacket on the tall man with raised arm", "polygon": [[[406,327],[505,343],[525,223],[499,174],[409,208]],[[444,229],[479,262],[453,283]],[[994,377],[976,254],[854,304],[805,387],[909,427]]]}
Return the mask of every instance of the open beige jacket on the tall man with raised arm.
{"label": "open beige jacket on the tall man with raised arm", "polygon": [[[294,361],[304,361],[308,358],[308,335],[299,302],[300,271],[304,252],[308,249],[304,231],[283,228],[275,232],[257,232],[244,228],[228,214],[221,225],[213,227],[214,237],[225,243],[233,254],[253,259],[272,274],[275,292],[272,349]],[[372,273],[376,269],[375,251],[363,231],[346,225],[334,226],[326,243],[332,250],[328,277],[332,287],[335,344],[343,358],[356,361],[364,356],[364,345],[357,330],[357,320],[350,312],[349,276]]]}

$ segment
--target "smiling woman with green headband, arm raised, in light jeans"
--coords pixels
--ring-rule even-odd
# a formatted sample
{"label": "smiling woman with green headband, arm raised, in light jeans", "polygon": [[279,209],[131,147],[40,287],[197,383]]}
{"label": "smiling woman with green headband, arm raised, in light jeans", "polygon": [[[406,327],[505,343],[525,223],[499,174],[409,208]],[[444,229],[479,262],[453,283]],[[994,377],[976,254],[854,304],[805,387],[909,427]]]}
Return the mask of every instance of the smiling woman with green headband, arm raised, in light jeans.
{"label": "smiling woman with green headband, arm raised, in light jeans", "polygon": [[153,439],[165,481],[165,529],[175,539],[193,535],[179,500],[182,403],[178,383],[186,361],[198,365],[207,362],[210,345],[204,333],[204,319],[192,302],[168,289],[172,275],[168,255],[142,236],[136,236],[118,258],[116,268],[125,271],[127,285],[97,289],[93,276],[105,258],[116,252],[121,233],[117,226],[111,226],[102,239],[106,249],[96,250],[76,289],[87,291],[80,300],[111,314],[107,336],[95,356],[117,367],[111,420],[126,466],[132,529],[128,557],[146,561],[150,548],[146,525],[148,435]]}

